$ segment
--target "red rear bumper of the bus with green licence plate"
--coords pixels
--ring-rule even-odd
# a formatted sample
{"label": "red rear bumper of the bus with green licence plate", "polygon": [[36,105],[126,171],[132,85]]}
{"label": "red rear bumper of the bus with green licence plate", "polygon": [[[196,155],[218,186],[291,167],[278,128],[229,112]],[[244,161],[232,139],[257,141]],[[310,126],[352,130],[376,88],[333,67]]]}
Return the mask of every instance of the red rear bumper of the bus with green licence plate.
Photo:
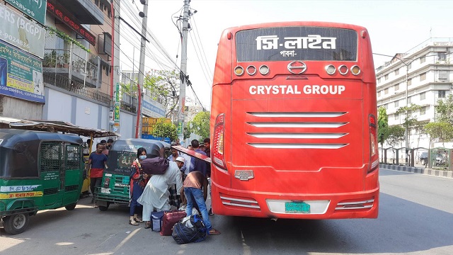
{"label": "red rear bumper of the bus with green licence plate", "polygon": [[377,218],[379,187],[355,193],[275,194],[244,192],[212,183],[216,215],[288,219]]}

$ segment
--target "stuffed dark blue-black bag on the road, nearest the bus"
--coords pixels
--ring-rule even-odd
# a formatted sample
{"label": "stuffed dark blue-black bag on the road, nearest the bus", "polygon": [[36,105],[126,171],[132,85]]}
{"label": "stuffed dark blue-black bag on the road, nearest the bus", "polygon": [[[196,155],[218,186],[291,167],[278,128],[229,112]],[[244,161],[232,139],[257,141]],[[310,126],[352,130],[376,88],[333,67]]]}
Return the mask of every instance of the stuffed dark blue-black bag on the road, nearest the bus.
{"label": "stuffed dark blue-black bag on the road, nearest the bus", "polygon": [[205,223],[198,215],[190,215],[180,220],[173,227],[171,236],[178,244],[202,242],[206,239]]}

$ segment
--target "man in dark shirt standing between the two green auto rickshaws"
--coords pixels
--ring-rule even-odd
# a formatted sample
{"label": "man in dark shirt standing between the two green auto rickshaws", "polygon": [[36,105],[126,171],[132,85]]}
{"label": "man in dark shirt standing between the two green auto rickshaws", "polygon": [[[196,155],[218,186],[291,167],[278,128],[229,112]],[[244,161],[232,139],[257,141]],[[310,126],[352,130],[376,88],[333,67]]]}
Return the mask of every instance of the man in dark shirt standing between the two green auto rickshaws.
{"label": "man in dark shirt standing between the two green auto rickshaws", "polygon": [[93,195],[91,203],[94,203],[94,191],[96,187],[101,186],[103,171],[107,166],[107,156],[103,154],[104,145],[98,143],[96,145],[96,152],[92,152],[88,158],[88,164],[86,164],[86,171],[90,169],[90,190]]}

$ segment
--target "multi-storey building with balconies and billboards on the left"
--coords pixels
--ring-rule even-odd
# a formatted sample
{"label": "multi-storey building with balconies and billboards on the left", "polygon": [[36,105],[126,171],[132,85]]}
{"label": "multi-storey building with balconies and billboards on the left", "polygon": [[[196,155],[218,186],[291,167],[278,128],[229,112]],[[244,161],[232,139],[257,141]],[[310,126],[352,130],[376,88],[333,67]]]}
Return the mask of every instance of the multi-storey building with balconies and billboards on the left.
{"label": "multi-storey building with balconies and billboards on the left", "polygon": [[[18,38],[18,42],[0,38],[5,49],[0,71],[8,77],[0,84],[0,115],[59,120],[133,137],[136,108],[114,94],[120,81],[118,43],[113,43],[113,36],[120,36],[120,21],[114,14],[120,15],[118,3],[6,0],[0,4],[0,11],[8,13],[0,21],[8,17],[23,21],[17,22],[17,28],[0,22],[1,30]],[[120,125],[113,121],[117,106]]]}

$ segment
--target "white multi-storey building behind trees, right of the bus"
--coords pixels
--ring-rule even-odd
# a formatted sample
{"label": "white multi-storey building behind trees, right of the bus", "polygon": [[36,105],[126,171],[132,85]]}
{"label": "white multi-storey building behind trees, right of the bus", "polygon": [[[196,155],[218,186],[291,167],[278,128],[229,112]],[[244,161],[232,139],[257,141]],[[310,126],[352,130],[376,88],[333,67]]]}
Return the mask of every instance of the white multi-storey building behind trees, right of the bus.
{"label": "white multi-storey building behind trees, right of the bus", "polygon": [[[431,38],[377,67],[377,107],[386,108],[389,125],[403,124],[404,113],[396,111],[411,103],[421,106],[413,113],[420,125],[435,121],[437,101],[452,94],[452,53],[453,38]],[[428,148],[429,143],[420,129],[411,129],[408,134],[411,148]],[[404,142],[400,147],[405,147]]]}

